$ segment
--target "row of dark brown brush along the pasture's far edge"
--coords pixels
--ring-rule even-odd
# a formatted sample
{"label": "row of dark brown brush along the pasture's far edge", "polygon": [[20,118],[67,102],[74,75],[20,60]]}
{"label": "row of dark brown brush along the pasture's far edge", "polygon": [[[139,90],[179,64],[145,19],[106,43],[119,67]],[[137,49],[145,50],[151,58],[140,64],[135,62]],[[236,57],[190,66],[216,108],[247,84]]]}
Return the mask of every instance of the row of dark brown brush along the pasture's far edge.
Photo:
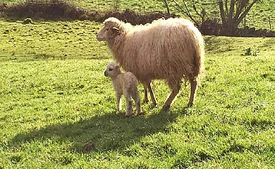
{"label": "row of dark brown brush along the pasture's far edge", "polygon": [[[140,25],[152,23],[158,18],[167,18],[166,13],[154,12],[140,14],[126,9],[123,12],[109,11],[99,13],[97,11],[86,11],[79,8],[68,1],[64,0],[48,0],[44,3],[42,0],[26,1],[24,4],[16,4],[8,6],[7,4],[0,5],[0,13],[8,18],[44,18],[45,20],[94,20],[103,22],[106,18],[116,17],[124,22]],[[177,15],[171,15],[175,18]],[[222,35],[221,24],[215,20],[207,20],[202,23],[200,30],[204,35]],[[233,30],[233,37],[275,37],[275,32],[271,30],[256,30],[255,27],[236,28]]]}

